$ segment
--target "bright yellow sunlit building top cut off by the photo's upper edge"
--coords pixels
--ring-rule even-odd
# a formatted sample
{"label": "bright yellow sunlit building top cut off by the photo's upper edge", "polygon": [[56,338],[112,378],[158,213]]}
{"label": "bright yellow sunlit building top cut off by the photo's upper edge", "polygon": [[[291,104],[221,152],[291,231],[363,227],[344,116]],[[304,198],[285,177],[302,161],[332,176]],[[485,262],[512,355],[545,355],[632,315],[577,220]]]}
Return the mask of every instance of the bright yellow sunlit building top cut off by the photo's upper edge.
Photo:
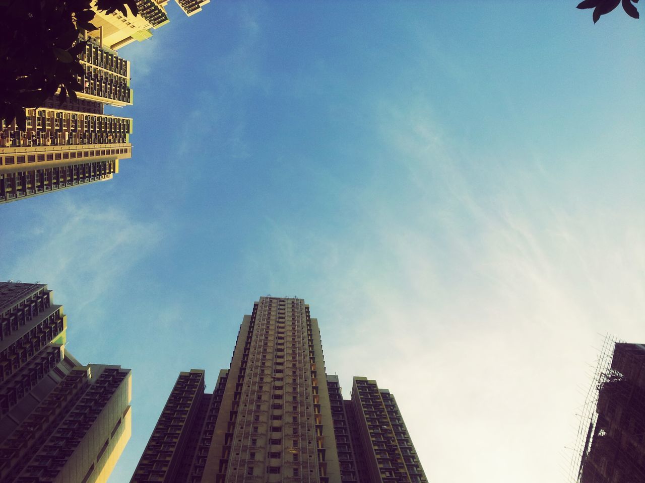
{"label": "bright yellow sunlit building top cut off by the photo's upper edge", "polygon": [[[201,12],[201,7],[210,0],[175,0],[186,15]],[[134,41],[143,41],[152,37],[152,30],[167,24],[170,20],[165,6],[168,0],[137,0],[139,15],[124,17],[120,12],[106,14],[97,11],[92,24],[98,30],[92,32],[104,46],[113,50]]]}

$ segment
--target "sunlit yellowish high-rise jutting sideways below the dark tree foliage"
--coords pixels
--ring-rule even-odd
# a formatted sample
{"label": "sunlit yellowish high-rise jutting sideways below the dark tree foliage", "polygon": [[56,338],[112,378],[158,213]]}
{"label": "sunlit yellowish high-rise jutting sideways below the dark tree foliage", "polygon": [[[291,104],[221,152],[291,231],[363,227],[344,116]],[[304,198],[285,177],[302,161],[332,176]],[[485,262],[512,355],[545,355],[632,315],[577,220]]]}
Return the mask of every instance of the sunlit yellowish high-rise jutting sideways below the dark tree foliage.
{"label": "sunlit yellowish high-rise jutting sideways below the dark tree foliage", "polygon": [[130,62],[90,39],[81,64],[77,101],[26,109],[25,131],[1,122],[0,203],[111,179],[132,156],[132,119],[103,113],[132,104]]}

